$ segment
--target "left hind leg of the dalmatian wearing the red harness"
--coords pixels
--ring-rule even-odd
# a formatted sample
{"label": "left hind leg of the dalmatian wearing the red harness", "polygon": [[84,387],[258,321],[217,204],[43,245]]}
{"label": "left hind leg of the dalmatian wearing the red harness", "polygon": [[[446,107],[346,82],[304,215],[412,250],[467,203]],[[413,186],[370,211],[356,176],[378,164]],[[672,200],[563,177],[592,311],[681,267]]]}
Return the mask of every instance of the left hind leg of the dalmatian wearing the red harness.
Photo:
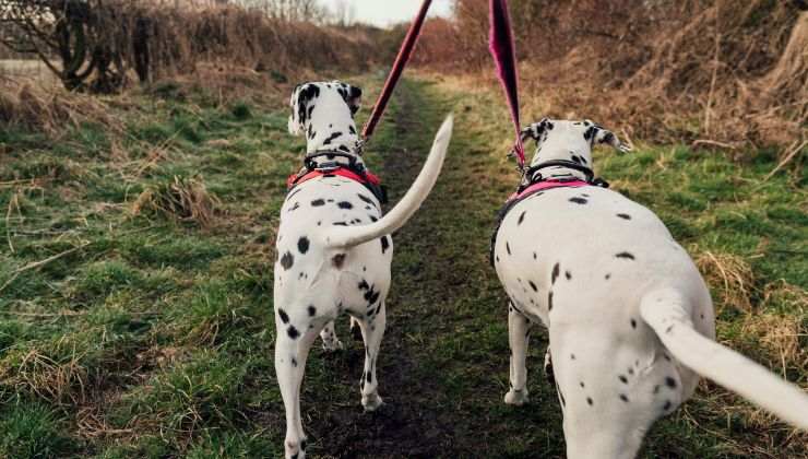
{"label": "left hind leg of the dalmatian wearing the red harness", "polygon": [[[283,310],[278,309],[280,313]],[[300,384],[306,369],[306,360],[319,330],[308,326],[304,327],[302,323],[299,323],[298,329],[294,323],[295,321],[289,320],[286,314],[283,314],[280,320],[276,319],[275,373],[286,409],[286,439],[284,442],[286,458],[304,459],[306,457],[306,435],[300,420]]]}

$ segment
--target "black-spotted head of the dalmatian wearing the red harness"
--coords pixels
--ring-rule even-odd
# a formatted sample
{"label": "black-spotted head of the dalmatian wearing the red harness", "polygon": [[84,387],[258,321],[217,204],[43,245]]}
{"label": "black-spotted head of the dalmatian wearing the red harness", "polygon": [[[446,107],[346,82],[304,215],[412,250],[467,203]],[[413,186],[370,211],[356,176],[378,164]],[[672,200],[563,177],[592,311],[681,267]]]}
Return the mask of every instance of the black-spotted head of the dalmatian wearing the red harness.
{"label": "black-spotted head of the dalmatian wearing the red harness", "polygon": [[359,111],[361,90],[341,81],[298,84],[289,99],[289,133],[300,136],[316,110],[328,111],[329,119],[353,118]]}

